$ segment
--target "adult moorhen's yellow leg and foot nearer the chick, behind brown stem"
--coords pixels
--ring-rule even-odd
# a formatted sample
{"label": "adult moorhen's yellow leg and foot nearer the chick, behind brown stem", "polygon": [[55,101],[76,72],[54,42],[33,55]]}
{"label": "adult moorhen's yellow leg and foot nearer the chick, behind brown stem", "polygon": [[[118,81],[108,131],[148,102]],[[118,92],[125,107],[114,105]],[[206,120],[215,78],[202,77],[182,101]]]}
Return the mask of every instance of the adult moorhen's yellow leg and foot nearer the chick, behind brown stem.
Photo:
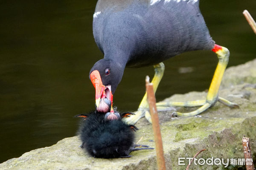
{"label": "adult moorhen's yellow leg and foot nearer the chick, behind brown stem", "polygon": [[[154,88],[154,93],[155,93],[157,91],[157,87],[163,77],[163,72],[164,72],[163,62],[161,62],[157,65],[154,65],[154,71],[155,71],[155,74],[154,74],[154,77],[153,77],[151,83],[153,83],[153,88]],[[124,121],[127,124],[134,125],[140,118],[142,118],[144,116],[146,119],[148,119],[148,122],[151,122],[151,116],[150,116],[149,109],[148,109],[147,93],[145,93],[142,101],[140,102],[138,111],[136,111],[134,115],[131,115],[130,117],[125,118]]]}

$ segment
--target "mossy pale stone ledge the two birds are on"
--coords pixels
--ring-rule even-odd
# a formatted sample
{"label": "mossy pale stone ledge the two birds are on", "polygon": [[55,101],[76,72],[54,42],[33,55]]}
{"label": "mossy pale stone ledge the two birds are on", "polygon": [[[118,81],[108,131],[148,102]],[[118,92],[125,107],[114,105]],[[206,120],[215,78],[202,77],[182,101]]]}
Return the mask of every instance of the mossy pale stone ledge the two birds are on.
{"label": "mossy pale stone ledge the two birds are on", "polygon": [[[172,117],[160,112],[161,133],[168,170],[185,170],[178,158],[193,157],[199,150],[207,149],[197,158],[244,158],[241,145],[243,136],[250,138],[253,156],[256,154],[256,59],[244,65],[228,68],[219,96],[237,103],[240,108],[229,108],[217,102],[200,116]],[[176,94],[166,101],[205,99],[206,92]],[[178,108],[187,112],[196,108]],[[140,129],[136,140],[154,147],[151,124],[145,119],[137,123]],[[0,164],[0,170],[155,170],[155,150],[132,152],[131,158],[98,159],[90,157],[79,145],[77,136],[65,138],[50,147],[24,153],[19,158]],[[255,159],[255,158],[254,158]],[[242,166],[194,165],[190,170],[236,170]]]}

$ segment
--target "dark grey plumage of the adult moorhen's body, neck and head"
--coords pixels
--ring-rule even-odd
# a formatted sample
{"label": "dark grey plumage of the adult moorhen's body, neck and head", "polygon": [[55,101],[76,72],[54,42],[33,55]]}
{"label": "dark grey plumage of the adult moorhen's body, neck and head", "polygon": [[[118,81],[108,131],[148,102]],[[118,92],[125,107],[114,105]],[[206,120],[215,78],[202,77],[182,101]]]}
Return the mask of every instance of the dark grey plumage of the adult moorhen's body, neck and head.
{"label": "dark grey plumage of the adult moorhen's body, neck and head", "polygon": [[[125,67],[154,65],[186,51],[211,50],[215,45],[200,12],[199,1],[152,2],[99,0],[97,3],[93,35],[104,59],[91,71],[111,68],[111,74],[115,74],[111,79],[112,93]],[[104,81],[102,78],[104,85],[109,83]]]}

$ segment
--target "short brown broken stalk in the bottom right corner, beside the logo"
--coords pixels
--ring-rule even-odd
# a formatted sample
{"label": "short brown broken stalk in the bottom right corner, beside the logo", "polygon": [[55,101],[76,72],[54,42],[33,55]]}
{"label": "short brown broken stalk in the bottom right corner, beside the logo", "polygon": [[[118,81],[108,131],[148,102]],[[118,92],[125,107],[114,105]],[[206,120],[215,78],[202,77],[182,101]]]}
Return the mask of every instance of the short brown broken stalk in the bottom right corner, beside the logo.
{"label": "short brown broken stalk in the bottom right corner, beside the logo", "polygon": [[244,159],[245,159],[246,170],[254,170],[253,157],[252,157],[252,152],[250,147],[250,139],[243,137],[242,144],[244,148]]}

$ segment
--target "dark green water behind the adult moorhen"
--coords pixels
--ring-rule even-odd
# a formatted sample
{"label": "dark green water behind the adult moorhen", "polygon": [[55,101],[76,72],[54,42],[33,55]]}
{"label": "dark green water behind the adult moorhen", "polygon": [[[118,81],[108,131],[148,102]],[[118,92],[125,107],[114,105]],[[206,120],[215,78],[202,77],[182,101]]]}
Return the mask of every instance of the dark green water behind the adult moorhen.
{"label": "dark green water behind the adult moorhen", "polygon": [[[96,0],[0,2],[0,162],[76,135],[73,116],[94,108],[88,73],[103,56],[92,33]],[[255,0],[201,0],[213,39],[230,50],[229,66],[256,57],[256,35],[242,11],[256,19]],[[157,101],[204,91],[218,59],[194,51],[165,62]],[[182,67],[192,72],[180,74]],[[137,109],[152,67],[126,69],[114,95],[121,111]],[[237,73],[239,74],[239,73]]]}

